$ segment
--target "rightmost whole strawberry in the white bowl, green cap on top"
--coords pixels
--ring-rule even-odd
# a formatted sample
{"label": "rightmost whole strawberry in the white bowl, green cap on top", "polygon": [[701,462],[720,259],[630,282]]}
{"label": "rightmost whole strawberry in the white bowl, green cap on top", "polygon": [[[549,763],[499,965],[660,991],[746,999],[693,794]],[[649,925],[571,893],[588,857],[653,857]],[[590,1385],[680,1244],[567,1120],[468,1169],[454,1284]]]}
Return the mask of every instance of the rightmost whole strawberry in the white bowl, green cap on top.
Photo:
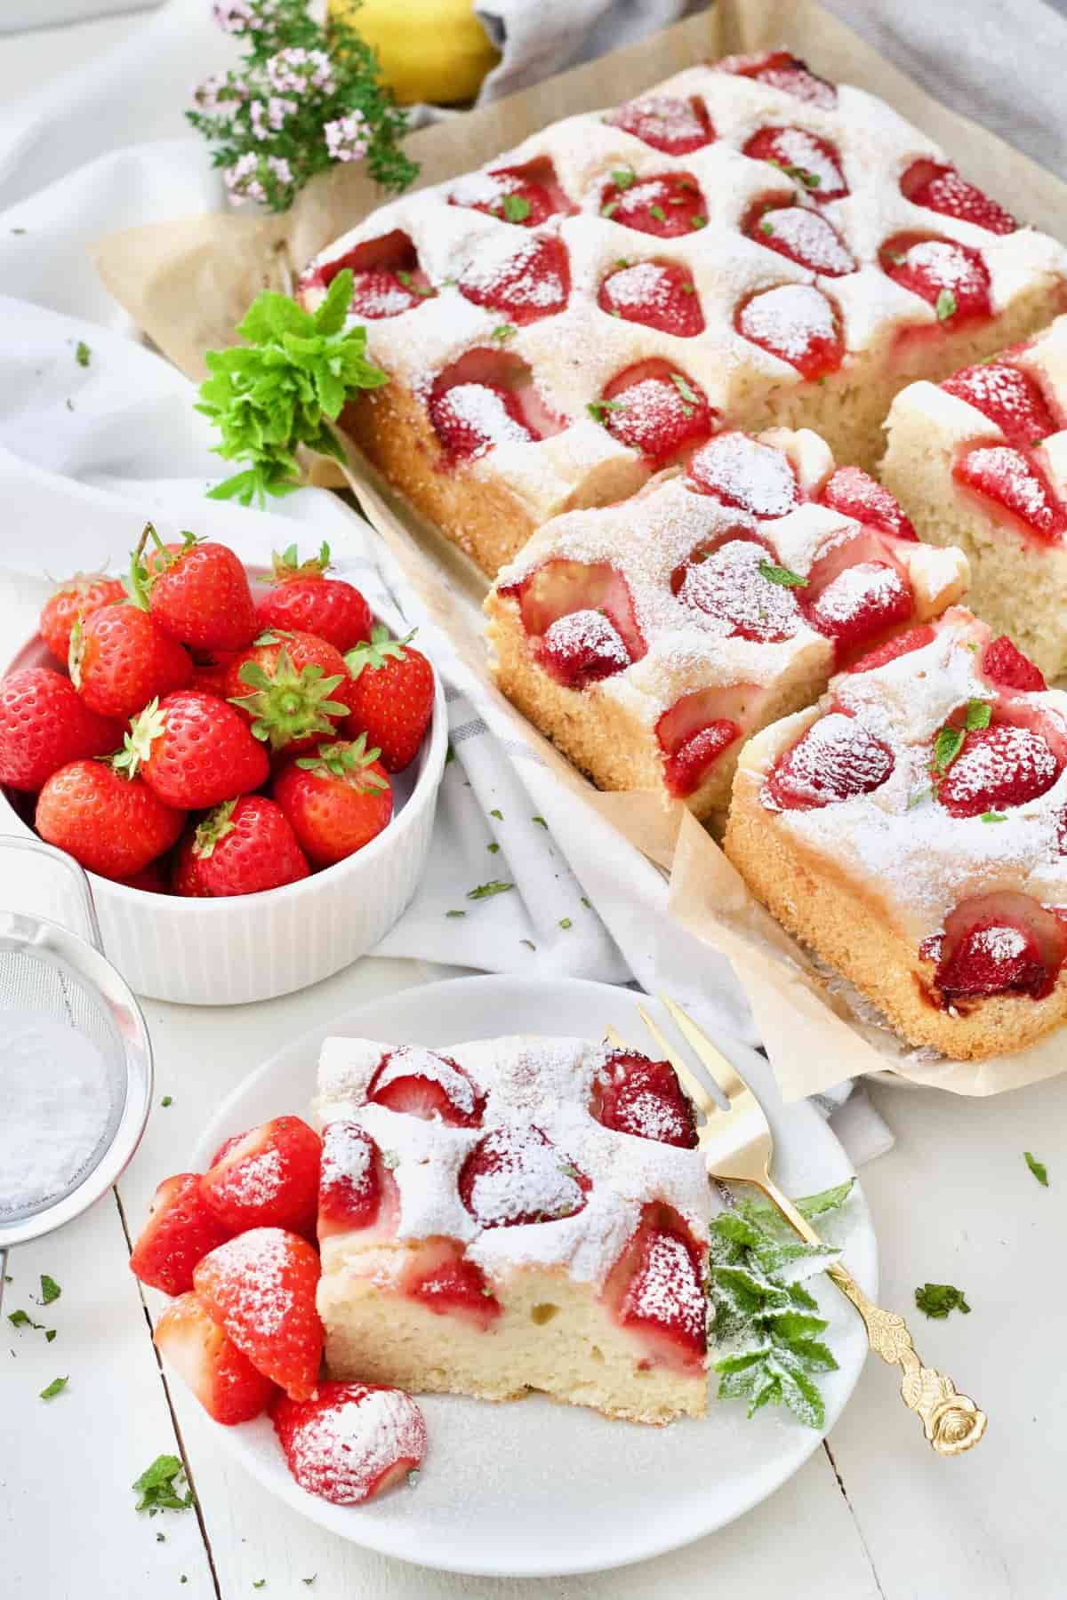
{"label": "rightmost whole strawberry in the white bowl, green cap on top", "polygon": [[414,760],[434,715],[434,667],[411,650],[413,637],[390,638],[389,629],[379,626],[370,645],[357,645],[344,658],[352,674],[352,715],[344,731],[349,738],[366,733],[389,773]]}

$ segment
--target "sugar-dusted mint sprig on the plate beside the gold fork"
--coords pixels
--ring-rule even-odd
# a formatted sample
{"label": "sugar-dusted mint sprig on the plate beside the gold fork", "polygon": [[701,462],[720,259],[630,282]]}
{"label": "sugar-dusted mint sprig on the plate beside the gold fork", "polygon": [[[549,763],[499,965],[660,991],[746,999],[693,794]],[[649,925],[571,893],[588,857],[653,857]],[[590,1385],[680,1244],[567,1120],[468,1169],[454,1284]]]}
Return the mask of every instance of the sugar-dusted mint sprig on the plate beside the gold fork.
{"label": "sugar-dusted mint sprig on the plate beside the gold fork", "polygon": [[[853,1182],[798,1200],[797,1210],[808,1219],[837,1211]],[[747,1400],[750,1418],[784,1405],[808,1427],[825,1424],[817,1379],[837,1360],[821,1338],[827,1322],[819,1302],[801,1280],[835,1258],[829,1245],[795,1238],[763,1202],[739,1200],[712,1221],[709,1341],[723,1350],[715,1362],[720,1400]]]}

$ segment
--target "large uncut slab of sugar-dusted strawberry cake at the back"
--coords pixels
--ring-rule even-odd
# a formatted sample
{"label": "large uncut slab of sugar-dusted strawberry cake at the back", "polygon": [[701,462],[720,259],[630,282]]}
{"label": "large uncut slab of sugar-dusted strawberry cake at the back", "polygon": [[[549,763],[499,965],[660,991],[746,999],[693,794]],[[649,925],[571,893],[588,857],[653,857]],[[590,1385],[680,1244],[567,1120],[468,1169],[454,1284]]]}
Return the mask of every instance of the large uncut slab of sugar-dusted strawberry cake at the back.
{"label": "large uncut slab of sugar-dusted strawberry cake at the back", "polygon": [[1067,253],[785,51],[688,67],[405,195],[302,272],[392,379],[342,426],[490,574],[725,426],[872,466],[904,384],[1024,339]]}

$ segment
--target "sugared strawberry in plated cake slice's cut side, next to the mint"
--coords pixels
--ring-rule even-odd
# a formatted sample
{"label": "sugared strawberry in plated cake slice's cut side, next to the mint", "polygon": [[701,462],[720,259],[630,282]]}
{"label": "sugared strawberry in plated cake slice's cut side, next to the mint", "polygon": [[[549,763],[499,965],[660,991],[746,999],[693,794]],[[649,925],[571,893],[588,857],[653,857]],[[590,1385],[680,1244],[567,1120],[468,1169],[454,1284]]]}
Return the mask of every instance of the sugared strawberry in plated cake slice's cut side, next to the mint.
{"label": "sugared strawberry in plated cake slice's cut side, next to the mint", "polygon": [[641,1221],[616,1261],[605,1299],[617,1322],[637,1334],[656,1365],[702,1371],[707,1352],[705,1256],[664,1202]]}

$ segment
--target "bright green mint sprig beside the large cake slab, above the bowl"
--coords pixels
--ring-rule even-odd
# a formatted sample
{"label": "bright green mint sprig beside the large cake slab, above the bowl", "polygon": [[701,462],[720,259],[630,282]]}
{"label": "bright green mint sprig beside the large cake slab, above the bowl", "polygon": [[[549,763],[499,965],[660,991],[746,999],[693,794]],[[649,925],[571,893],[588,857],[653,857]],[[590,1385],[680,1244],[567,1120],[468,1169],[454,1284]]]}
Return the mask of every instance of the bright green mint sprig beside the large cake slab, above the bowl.
{"label": "bright green mint sprig beside the large cake slab, above the bowl", "polygon": [[389,381],[366,357],[366,328],[344,328],[350,302],[347,267],[314,312],[264,290],[237,326],[248,342],[208,350],[211,376],[200,386],[197,411],[222,435],[218,456],[250,462],[216,485],[210,499],[262,506],[267,494],[291,494],[301,486],[298,445],[344,459],[330,424],[357,389]]}

